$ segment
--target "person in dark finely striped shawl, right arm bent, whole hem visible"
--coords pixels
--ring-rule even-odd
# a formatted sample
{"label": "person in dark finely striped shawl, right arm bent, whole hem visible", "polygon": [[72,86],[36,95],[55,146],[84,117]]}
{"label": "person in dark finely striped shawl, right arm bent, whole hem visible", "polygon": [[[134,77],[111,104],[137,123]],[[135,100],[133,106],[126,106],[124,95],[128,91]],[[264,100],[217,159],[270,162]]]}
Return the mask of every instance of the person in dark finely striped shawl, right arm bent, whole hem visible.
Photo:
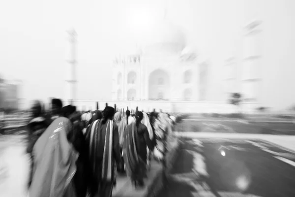
{"label": "person in dark finely striped shawl, right arm bent, whole hem visible", "polygon": [[135,187],[144,186],[144,177],[147,175],[147,146],[152,148],[148,128],[141,123],[143,118],[143,112],[139,111],[136,114],[136,123],[128,125],[124,133],[126,173]]}

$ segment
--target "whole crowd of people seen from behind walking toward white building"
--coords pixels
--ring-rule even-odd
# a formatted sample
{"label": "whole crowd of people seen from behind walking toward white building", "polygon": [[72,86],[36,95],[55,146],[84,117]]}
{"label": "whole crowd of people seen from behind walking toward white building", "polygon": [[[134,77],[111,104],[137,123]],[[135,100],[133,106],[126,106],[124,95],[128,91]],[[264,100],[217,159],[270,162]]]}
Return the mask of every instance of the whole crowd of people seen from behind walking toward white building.
{"label": "whole crowd of people seen from behind walking toward white building", "polygon": [[152,158],[166,167],[175,117],[138,107],[78,112],[60,99],[51,106],[47,114],[39,101],[31,108],[29,197],[111,197],[118,173],[141,188]]}

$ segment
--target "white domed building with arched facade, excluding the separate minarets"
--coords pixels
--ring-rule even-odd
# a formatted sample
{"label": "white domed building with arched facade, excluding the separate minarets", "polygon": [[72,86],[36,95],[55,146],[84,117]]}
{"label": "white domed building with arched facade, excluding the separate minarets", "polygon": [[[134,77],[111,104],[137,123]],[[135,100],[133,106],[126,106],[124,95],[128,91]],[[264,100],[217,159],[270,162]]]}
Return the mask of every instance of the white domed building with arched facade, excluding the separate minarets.
{"label": "white domed building with arched facade, excluding the separate minarets", "polygon": [[176,26],[168,21],[159,24],[158,32],[151,33],[154,41],[115,59],[113,100],[198,101],[206,97],[208,64],[186,47],[185,35]]}

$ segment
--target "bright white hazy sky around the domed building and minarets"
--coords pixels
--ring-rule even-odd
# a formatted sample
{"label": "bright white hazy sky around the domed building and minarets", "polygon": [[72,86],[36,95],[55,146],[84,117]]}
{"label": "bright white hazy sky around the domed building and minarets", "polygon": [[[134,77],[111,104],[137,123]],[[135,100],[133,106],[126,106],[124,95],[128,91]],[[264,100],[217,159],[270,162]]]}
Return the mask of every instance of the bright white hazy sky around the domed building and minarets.
{"label": "bright white hazy sky around the domed building and minarets", "polygon": [[[164,5],[165,0],[2,0],[0,71],[24,80],[28,99],[62,98],[66,30],[74,27],[79,42],[78,99],[111,99],[114,54],[128,50],[138,31],[148,27],[136,25],[136,18],[149,23],[163,15]],[[267,55],[275,58],[264,64],[264,101],[278,106],[295,99],[294,91],[281,88],[295,88],[294,8],[294,0],[170,0],[167,16],[198,51],[214,56],[212,84],[221,77],[218,64],[224,55],[238,53],[234,48],[243,25],[256,17],[264,20],[264,41],[273,42],[265,45]],[[210,97],[219,89],[211,89]]]}

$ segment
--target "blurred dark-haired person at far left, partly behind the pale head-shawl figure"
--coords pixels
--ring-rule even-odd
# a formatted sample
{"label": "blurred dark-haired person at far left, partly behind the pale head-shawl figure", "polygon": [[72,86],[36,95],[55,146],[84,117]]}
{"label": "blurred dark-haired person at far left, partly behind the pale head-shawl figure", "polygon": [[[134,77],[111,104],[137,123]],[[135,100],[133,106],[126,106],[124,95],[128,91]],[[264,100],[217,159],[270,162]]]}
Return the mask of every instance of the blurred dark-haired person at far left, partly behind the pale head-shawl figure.
{"label": "blurred dark-haired person at far left, partly behind the pale head-shawl figure", "polygon": [[32,108],[32,115],[33,119],[29,121],[27,125],[27,130],[29,132],[29,139],[28,139],[28,146],[27,146],[27,153],[30,154],[31,165],[30,165],[30,173],[29,173],[29,182],[28,186],[30,186],[32,181],[32,173],[33,173],[33,166],[34,166],[34,157],[33,157],[33,147],[38,140],[38,138],[43,134],[43,132],[47,129],[50,122],[47,122],[44,117],[42,117],[42,105],[39,101],[34,101]]}

